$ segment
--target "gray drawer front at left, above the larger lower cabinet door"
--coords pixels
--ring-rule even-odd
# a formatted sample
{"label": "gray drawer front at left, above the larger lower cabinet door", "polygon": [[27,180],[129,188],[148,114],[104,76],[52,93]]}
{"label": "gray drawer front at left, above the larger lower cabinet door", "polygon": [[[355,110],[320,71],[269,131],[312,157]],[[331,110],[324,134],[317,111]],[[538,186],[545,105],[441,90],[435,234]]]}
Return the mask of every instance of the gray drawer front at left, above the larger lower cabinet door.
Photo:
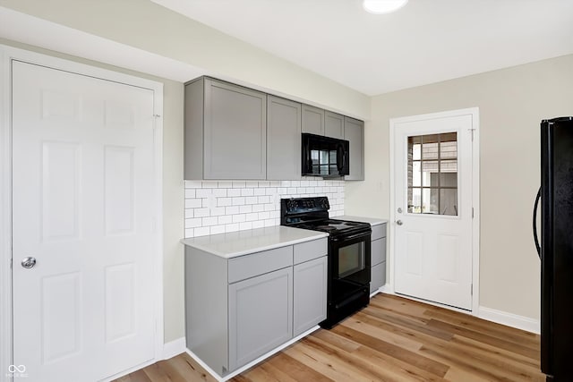
{"label": "gray drawer front at left, above the larger lower cabinet door", "polygon": [[229,259],[229,284],[293,265],[293,246],[263,250]]}

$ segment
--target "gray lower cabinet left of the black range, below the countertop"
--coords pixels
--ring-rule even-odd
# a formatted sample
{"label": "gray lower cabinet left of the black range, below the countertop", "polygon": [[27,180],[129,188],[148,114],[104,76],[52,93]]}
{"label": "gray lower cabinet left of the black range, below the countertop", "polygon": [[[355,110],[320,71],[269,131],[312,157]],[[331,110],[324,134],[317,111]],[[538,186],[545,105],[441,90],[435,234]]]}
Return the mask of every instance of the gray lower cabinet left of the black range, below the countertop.
{"label": "gray lower cabinet left of the black range, below the countertop", "polygon": [[185,247],[187,348],[219,376],[326,318],[327,238],[225,259]]}

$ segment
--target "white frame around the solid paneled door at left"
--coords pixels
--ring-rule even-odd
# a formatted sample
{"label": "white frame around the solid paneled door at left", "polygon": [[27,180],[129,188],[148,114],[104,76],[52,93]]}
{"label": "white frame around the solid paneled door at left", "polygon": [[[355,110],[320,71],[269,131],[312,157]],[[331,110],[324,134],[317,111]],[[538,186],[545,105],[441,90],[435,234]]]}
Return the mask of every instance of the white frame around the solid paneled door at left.
{"label": "white frame around the solid paneled door at left", "polygon": [[[163,84],[132,75],[80,64],[50,55],[0,45],[0,377],[13,362],[12,290],[12,70],[13,60],[38,64],[89,77],[124,83],[153,91],[154,229],[153,311],[155,312],[154,359],[163,358]],[[7,341],[5,341],[5,340]],[[136,366],[136,365],[133,365]]]}

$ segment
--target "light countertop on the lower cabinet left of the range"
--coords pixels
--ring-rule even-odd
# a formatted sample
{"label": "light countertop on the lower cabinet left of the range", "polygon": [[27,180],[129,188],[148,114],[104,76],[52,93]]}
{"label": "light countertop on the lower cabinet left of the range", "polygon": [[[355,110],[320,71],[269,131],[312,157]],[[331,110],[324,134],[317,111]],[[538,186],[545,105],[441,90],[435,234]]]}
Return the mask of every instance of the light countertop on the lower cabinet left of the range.
{"label": "light countertop on the lower cabinet left of the range", "polygon": [[192,248],[230,259],[261,250],[272,250],[299,242],[310,242],[328,235],[328,233],[319,231],[275,225],[233,233],[193,237],[182,239],[181,242]]}

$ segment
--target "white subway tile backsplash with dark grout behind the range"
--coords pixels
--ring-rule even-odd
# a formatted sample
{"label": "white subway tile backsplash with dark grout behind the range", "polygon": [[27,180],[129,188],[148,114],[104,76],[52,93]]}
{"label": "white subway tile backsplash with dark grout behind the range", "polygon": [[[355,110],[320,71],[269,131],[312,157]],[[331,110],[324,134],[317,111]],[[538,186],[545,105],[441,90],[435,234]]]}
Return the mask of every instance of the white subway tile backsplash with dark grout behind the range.
{"label": "white subway tile backsplash with dark grout behind the range", "polygon": [[343,181],[185,181],[185,237],[280,224],[280,199],[327,196],[330,216],[344,215]]}

